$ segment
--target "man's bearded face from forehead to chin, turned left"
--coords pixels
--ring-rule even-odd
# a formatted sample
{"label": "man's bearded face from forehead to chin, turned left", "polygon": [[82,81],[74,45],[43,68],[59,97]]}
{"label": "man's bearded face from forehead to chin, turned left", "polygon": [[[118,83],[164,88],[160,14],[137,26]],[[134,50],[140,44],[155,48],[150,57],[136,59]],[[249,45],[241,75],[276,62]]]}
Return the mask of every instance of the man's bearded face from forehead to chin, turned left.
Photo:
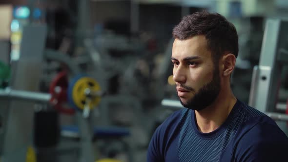
{"label": "man's bearded face from forehead to chin, turned left", "polygon": [[175,39],[172,49],[173,80],[183,106],[202,110],[220,92],[219,65],[213,63],[205,36]]}

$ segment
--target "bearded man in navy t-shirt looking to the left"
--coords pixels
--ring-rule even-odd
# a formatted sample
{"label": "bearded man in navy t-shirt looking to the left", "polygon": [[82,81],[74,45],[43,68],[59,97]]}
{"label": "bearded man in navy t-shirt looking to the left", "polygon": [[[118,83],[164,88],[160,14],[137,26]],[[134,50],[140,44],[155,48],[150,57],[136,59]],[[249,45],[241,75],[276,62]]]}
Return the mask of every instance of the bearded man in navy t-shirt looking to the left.
{"label": "bearded man in navy t-shirt looking to the left", "polygon": [[230,88],[238,55],[233,24],[197,12],[173,29],[173,80],[186,109],[155,131],[148,162],[288,162],[288,138]]}

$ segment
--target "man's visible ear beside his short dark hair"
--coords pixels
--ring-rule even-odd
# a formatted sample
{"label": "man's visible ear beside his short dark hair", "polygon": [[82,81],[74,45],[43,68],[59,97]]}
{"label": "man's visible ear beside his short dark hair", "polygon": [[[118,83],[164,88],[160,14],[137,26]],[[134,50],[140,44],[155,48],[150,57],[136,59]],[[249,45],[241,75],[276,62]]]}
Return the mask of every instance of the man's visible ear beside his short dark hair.
{"label": "man's visible ear beside his short dark hair", "polygon": [[223,66],[224,66],[223,75],[225,77],[228,77],[231,75],[231,73],[233,72],[233,70],[235,68],[236,57],[235,57],[235,55],[228,53],[228,54],[223,56],[222,62],[223,62]]}

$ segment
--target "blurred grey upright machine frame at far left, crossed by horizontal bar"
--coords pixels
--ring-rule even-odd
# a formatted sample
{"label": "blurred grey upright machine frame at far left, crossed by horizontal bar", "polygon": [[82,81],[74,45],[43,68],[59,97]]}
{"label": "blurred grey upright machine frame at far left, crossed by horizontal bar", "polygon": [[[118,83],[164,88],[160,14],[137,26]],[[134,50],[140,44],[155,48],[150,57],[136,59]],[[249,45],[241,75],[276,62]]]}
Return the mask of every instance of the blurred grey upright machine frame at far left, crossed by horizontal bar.
{"label": "blurred grey upright machine frame at far left, crossed by horizontal bar", "polygon": [[[31,101],[31,98],[35,97],[33,93],[39,91],[45,37],[46,26],[24,27],[21,57],[19,61],[13,61],[11,66],[14,72],[11,77],[11,89],[1,91],[0,153],[2,162],[25,162],[27,148],[32,144],[34,114],[32,101],[47,98],[45,95],[36,95],[35,100]],[[28,101],[14,100],[15,98],[27,98]]]}

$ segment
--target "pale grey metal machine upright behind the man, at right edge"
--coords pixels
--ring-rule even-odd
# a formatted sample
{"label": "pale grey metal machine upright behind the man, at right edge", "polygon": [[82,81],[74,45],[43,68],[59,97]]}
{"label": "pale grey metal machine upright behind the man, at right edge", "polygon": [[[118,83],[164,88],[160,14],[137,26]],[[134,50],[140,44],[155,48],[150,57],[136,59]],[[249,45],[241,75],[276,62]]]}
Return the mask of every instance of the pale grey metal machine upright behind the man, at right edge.
{"label": "pale grey metal machine upright behind the man, at right edge", "polygon": [[[268,19],[263,37],[259,65],[254,67],[249,105],[264,112],[275,121],[288,121],[288,115],[275,113],[281,83],[281,70],[288,63],[285,50],[288,21]],[[286,124],[280,126],[287,130]]]}

